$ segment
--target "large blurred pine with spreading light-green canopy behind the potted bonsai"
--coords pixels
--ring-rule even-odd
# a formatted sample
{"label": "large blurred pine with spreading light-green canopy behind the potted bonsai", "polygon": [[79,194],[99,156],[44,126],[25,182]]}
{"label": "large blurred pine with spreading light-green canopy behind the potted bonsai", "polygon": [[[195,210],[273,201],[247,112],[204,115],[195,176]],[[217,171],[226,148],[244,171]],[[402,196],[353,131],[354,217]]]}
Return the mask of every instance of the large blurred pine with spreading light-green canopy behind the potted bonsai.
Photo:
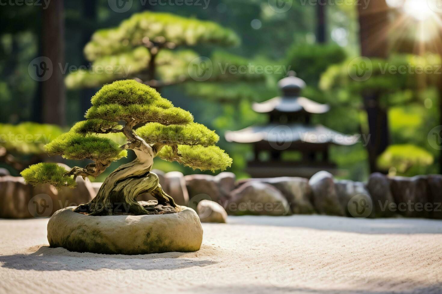
{"label": "large blurred pine with spreading light-green canopy behind the potted bonsai", "polygon": [[[91,69],[73,72],[66,78],[66,85],[71,89],[95,87],[134,78],[159,89],[192,80],[194,71],[200,70],[198,54],[177,47],[238,43],[236,33],[215,22],[145,11],[132,15],[116,28],[95,32],[84,47],[84,55],[92,62]],[[192,60],[197,68],[189,67]],[[109,68],[111,72],[103,71]]]}

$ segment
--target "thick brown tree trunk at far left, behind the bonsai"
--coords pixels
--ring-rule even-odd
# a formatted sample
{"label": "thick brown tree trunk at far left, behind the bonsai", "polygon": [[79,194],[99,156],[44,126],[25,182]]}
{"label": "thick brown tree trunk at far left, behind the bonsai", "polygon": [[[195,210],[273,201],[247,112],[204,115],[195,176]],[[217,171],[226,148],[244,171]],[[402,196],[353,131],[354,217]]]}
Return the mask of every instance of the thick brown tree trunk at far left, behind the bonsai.
{"label": "thick brown tree trunk at far left, behind the bonsai", "polygon": [[52,62],[53,72],[42,83],[43,123],[65,123],[65,83],[59,64],[64,60],[63,0],[52,0],[42,11],[42,56]]}

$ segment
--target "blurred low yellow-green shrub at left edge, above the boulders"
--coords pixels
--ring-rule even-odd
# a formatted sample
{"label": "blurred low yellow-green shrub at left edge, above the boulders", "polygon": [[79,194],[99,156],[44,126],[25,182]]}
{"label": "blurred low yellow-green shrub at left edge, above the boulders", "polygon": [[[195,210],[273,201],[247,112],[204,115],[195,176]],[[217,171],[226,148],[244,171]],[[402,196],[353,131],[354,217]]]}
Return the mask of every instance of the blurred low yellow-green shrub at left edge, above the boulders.
{"label": "blurred low yellow-green shrub at left edge, above the boulders", "polygon": [[0,123],[0,162],[18,172],[43,160],[43,146],[61,134],[55,125],[40,123]]}

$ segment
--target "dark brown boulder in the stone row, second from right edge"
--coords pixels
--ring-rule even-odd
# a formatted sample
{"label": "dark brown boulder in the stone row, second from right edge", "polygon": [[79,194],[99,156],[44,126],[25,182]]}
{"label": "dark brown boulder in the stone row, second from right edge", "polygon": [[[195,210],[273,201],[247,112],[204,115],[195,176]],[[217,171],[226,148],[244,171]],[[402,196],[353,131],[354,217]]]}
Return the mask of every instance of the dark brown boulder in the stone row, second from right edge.
{"label": "dark brown boulder in the stone row, second from right edge", "polygon": [[427,177],[392,177],[390,187],[399,214],[408,217],[432,216],[434,207],[429,202]]}

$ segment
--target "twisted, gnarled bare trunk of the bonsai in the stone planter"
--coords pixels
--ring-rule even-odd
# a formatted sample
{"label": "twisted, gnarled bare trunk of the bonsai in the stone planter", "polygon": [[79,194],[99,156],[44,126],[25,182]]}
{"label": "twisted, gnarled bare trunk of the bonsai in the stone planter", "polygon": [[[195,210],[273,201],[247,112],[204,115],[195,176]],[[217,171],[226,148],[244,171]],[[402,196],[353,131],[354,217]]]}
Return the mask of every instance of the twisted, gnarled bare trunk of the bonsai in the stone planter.
{"label": "twisted, gnarled bare trunk of the bonsai in the stone planter", "polygon": [[[103,182],[95,198],[78,206],[75,211],[86,212],[91,216],[158,214],[161,210],[164,211],[162,213],[175,212],[175,201],[161,188],[158,175],[151,172],[153,158],[159,150],[152,149],[142,138],[133,134],[130,126],[125,127],[123,133],[132,142],[122,148],[132,149],[136,159],[113,171]],[[151,193],[159,205],[169,207],[152,206],[145,209],[137,202],[137,197],[145,193]]]}

